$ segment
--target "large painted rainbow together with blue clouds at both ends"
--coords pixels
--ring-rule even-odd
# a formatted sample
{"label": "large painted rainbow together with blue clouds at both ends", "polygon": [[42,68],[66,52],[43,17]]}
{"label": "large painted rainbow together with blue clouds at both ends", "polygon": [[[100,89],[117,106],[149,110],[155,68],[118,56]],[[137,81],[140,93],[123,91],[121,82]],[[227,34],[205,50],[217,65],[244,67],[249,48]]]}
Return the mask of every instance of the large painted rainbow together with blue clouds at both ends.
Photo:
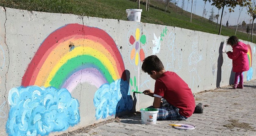
{"label": "large painted rainbow together with blue clouds at both ends", "polygon": [[[9,91],[6,132],[10,136],[48,135],[80,122],[77,84],[95,85],[96,120],[132,110],[123,58],[107,32],[80,24],[53,31],[37,49],[22,77]],[[86,105],[83,105],[86,108]]]}

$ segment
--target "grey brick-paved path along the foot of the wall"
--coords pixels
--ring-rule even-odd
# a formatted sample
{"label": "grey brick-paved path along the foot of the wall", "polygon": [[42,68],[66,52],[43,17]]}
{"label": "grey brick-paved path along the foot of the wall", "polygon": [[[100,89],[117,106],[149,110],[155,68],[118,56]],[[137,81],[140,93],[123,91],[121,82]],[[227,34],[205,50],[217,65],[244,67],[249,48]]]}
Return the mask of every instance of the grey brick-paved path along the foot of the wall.
{"label": "grey brick-paved path along the foot of the wall", "polygon": [[[186,121],[157,121],[155,125],[143,125],[137,113],[62,136],[256,136],[256,80],[246,82],[244,89],[231,88],[197,93],[196,104],[205,105],[203,114],[193,114]],[[185,131],[168,125],[177,123],[196,128]]]}

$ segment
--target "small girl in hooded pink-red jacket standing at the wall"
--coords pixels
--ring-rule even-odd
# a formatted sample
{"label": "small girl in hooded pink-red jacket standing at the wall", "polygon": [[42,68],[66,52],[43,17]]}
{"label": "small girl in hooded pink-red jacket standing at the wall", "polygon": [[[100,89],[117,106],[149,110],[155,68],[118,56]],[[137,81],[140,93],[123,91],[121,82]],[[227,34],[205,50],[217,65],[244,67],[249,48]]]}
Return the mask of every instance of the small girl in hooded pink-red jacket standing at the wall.
{"label": "small girl in hooded pink-red jacket standing at the wall", "polygon": [[[249,61],[247,57],[248,48],[245,43],[238,42],[238,38],[235,36],[229,37],[227,44],[229,44],[233,49],[233,52],[227,52],[228,57],[232,59],[233,72],[235,72],[233,89],[243,89],[243,72],[249,70]],[[240,81],[239,84],[237,84],[239,78]]]}

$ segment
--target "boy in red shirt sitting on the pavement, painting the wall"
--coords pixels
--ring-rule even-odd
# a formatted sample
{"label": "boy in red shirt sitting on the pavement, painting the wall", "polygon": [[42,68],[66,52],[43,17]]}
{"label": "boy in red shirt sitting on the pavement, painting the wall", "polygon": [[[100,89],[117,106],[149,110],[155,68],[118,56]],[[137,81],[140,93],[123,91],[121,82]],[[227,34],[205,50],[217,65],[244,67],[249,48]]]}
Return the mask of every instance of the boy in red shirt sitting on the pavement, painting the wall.
{"label": "boy in red shirt sitting on the pavement, painting the wall", "polygon": [[202,103],[195,108],[195,99],[187,83],[176,73],[165,71],[156,55],[145,58],[141,68],[155,79],[154,92],[147,89],[143,93],[154,97],[151,107],[159,110],[157,120],[187,120],[193,113],[203,113]]}

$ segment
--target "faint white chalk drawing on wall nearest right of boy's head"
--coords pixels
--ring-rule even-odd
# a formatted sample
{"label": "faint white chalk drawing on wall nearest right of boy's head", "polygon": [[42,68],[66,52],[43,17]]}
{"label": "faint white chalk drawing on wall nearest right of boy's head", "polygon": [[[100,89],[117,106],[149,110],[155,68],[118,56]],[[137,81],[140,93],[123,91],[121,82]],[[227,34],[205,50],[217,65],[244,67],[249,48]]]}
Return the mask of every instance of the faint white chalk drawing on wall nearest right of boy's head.
{"label": "faint white chalk drawing on wall nearest right of boy's head", "polygon": [[[171,52],[167,52],[167,66],[165,69],[177,72],[182,67],[182,55],[181,49],[179,49],[175,44],[175,33],[171,31],[168,35],[167,47]],[[172,69],[171,69],[172,68]]]}

